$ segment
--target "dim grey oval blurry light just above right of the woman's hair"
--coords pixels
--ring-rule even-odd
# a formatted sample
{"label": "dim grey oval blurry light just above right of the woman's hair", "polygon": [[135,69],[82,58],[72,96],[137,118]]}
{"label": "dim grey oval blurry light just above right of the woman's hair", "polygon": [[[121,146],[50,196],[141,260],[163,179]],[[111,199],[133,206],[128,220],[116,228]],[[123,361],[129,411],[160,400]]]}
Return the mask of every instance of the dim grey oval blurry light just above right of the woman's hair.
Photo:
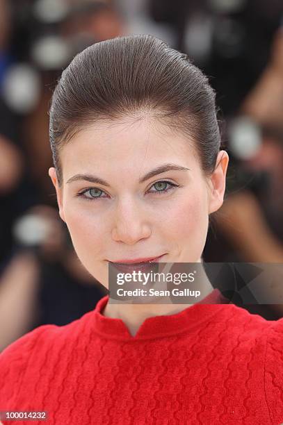
{"label": "dim grey oval blurry light just above right of the woman's hair", "polygon": [[188,20],[184,43],[188,56],[204,63],[211,53],[213,21],[207,15],[195,15]]}

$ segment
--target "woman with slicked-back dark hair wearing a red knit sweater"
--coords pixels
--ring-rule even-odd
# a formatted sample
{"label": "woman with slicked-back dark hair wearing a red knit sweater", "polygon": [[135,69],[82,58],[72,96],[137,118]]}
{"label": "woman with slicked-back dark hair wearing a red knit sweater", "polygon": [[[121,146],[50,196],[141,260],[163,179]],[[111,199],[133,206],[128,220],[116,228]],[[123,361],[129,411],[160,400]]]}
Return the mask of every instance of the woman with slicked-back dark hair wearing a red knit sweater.
{"label": "woman with slicked-back dark hair wearing a red knit sweater", "polygon": [[[50,140],[59,215],[106,288],[112,263],[201,263],[229,158],[213,90],[184,54],[149,35],[88,47],[54,91]],[[0,409],[50,424],[277,425],[282,337],[282,320],[223,304],[209,282],[194,305],[106,296],[3,351]]]}

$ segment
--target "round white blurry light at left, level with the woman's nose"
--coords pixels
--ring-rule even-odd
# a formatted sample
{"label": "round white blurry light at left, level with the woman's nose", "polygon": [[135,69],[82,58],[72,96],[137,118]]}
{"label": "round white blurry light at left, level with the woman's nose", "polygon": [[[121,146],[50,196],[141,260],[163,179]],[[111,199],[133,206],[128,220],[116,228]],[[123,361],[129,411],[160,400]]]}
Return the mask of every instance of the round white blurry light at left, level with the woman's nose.
{"label": "round white blurry light at left, level with the woman's nose", "polygon": [[26,246],[41,244],[50,232],[50,225],[38,215],[24,215],[17,219],[13,227],[13,235],[17,242]]}

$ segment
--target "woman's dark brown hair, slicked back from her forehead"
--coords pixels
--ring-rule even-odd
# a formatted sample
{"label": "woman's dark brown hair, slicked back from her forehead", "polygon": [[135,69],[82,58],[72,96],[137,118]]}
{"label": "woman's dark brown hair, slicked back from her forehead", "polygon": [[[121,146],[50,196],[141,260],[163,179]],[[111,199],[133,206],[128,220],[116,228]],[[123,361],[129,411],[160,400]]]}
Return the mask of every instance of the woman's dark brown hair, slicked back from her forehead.
{"label": "woman's dark brown hair, slicked back from her forehead", "polygon": [[51,100],[50,143],[58,183],[60,149],[100,119],[149,111],[188,136],[204,174],[216,167],[220,131],[215,93],[188,56],[152,35],[129,35],[92,44],[74,57]]}

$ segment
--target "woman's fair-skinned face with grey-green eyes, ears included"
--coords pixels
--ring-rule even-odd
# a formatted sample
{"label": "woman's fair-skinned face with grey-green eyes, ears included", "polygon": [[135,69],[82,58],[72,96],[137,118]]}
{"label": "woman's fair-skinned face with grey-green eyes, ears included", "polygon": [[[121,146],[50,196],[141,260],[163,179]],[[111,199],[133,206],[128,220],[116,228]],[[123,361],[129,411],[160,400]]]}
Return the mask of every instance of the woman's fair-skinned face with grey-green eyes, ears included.
{"label": "woman's fair-skinned face with grey-green eyes, ears included", "polygon": [[[220,151],[220,165],[204,178],[192,145],[153,118],[125,117],[88,126],[63,147],[61,188],[49,169],[76,254],[106,288],[109,260],[200,260],[229,158]],[[168,165],[181,169],[154,172]]]}

